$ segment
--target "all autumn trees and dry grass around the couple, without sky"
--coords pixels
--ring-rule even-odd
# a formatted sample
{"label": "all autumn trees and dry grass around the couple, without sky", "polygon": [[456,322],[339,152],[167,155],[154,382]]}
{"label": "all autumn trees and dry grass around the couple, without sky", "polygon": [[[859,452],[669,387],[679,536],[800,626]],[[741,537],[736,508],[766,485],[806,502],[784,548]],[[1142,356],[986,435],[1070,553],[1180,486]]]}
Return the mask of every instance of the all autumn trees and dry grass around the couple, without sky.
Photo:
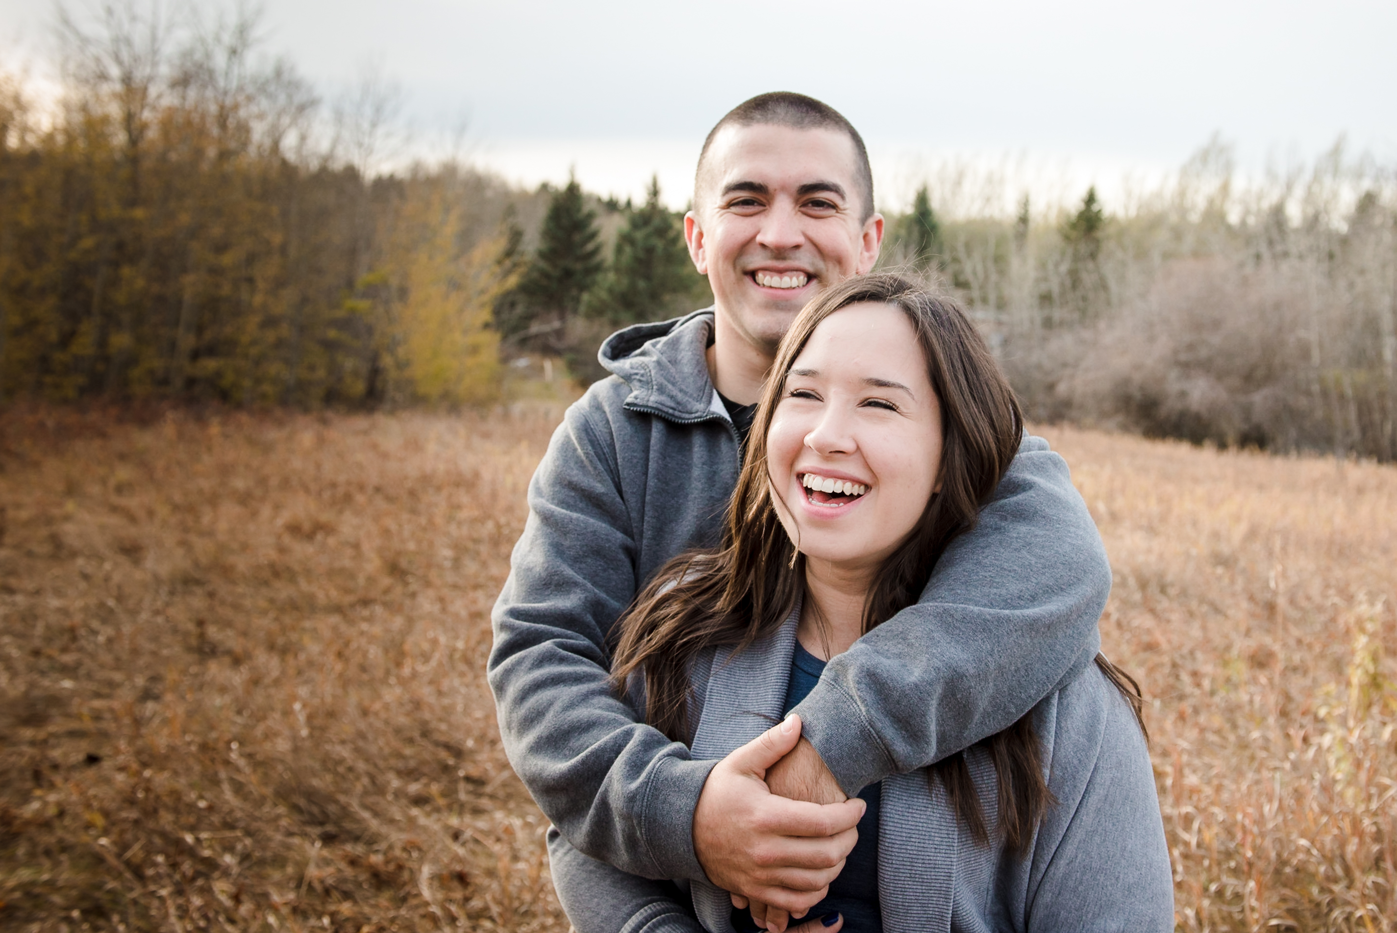
{"label": "all autumn trees and dry grass around the couple, without sky", "polygon": [[[60,15],[52,106],[0,68],[0,927],[562,933],[489,608],[598,342],[711,300],[680,214],[149,10]],[[1006,190],[929,172],[883,263],[1102,531],[1178,927],[1397,930],[1391,169]]]}

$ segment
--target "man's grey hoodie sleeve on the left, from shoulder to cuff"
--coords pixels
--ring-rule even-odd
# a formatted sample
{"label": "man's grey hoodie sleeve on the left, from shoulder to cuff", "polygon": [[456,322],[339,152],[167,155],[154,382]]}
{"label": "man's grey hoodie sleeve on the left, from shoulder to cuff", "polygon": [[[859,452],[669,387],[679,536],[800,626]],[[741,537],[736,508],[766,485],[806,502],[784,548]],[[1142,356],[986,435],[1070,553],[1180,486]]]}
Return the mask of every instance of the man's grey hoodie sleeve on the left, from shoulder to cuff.
{"label": "man's grey hoodie sleeve on the left, from shoulder to cuff", "polygon": [[693,813],[715,763],[693,761],[610,690],[605,626],[636,594],[636,541],[613,446],[585,402],[569,409],[534,473],[492,613],[500,737],[581,853],[643,877],[704,879]]}

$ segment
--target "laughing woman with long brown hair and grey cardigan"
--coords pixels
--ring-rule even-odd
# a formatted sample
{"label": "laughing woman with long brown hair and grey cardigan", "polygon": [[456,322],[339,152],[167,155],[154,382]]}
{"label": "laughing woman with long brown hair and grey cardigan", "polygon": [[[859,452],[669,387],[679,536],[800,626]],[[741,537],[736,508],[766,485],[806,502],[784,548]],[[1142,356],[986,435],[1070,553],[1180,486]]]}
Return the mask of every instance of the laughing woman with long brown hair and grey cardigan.
{"label": "laughing woman with long brown hair and grey cardigan", "polygon": [[[918,598],[1021,433],[953,303],[893,275],[830,289],[782,342],[722,546],[671,561],[619,623],[617,689],[696,758],[752,740]],[[859,844],[802,933],[1173,927],[1139,693],[1104,658],[1003,732],[861,796]],[[580,933],[757,929],[711,884],[624,874],[556,831],[549,852]]]}

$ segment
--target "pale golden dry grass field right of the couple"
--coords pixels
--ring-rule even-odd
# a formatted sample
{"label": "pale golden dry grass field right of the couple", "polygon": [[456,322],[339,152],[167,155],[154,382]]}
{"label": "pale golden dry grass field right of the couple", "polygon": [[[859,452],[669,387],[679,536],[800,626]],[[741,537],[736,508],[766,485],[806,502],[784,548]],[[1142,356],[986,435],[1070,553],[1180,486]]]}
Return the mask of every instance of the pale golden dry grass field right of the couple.
{"label": "pale golden dry grass field right of the couple", "polygon": [[1101,527],[1183,930],[1397,930],[1397,469],[1045,434]]}

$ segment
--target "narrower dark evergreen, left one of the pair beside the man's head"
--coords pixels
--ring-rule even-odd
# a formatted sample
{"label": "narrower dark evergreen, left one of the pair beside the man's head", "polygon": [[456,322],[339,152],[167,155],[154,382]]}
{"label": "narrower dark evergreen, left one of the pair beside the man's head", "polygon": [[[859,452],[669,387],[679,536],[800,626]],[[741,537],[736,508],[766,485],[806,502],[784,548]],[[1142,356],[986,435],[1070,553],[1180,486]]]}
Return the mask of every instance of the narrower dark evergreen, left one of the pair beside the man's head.
{"label": "narrower dark evergreen, left one of the pair beside the man's head", "polygon": [[583,296],[602,272],[602,244],[597,214],[583,201],[576,177],[553,196],[543,216],[538,253],[520,282],[534,307],[534,327],[562,328],[577,314]]}

